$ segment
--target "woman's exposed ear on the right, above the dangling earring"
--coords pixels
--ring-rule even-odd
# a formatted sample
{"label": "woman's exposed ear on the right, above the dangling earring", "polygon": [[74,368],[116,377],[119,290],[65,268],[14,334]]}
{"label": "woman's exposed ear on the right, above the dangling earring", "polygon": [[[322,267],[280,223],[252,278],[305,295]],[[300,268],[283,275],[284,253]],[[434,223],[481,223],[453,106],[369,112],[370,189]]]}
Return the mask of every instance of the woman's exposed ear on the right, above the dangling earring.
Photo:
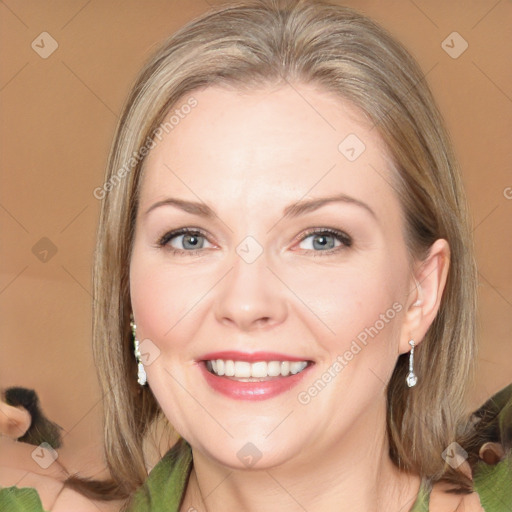
{"label": "woman's exposed ear on the right, above the dangling earring", "polygon": [[415,345],[425,337],[428,328],[439,311],[448,269],[450,246],[443,239],[436,240],[430,247],[425,260],[417,263],[409,282],[406,312],[400,336],[400,353],[409,352],[409,340]]}

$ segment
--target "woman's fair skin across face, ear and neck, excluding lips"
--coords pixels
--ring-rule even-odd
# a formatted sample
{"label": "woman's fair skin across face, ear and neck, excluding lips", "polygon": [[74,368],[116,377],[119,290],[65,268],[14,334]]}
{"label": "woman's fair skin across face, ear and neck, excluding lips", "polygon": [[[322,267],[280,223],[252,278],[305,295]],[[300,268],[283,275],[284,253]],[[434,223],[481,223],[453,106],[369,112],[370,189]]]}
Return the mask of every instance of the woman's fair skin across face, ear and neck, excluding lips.
{"label": "woman's fair skin across face, ear and neck, excluding lips", "polygon": [[[193,447],[183,510],[407,510],[419,479],[387,455],[384,391],[399,354],[411,338],[421,342],[437,313],[446,241],[410,265],[385,148],[349,103],[297,84],[246,94],[211,87],[194,97],[197,107],[146,161],[130,263],[138,339],[158,354],[146,367],[149,385]],[[349,134],[366,147],[355,161],[338,150]],[[352,201],[283,216],[291,203],[334,194],[373,214]],[[216,216],[170,205],[148,212],[169,197],[205,203]],[[183,227],[204,232],[198,252],[186,254],[180,236],[158,245]],[[311,228],[341,230],[352,242],[329,239],[338,250],[326,254]],[[236,251],[247,236],[262,250],[252,263]],[[393,304],[393,320],[300,403],[298,393]],[[234,401],[199,371],[201,356],[217,350],[277,351],[315,365],[288,392]],[[237,456],[247,443],[261,454],[250,470]]]}

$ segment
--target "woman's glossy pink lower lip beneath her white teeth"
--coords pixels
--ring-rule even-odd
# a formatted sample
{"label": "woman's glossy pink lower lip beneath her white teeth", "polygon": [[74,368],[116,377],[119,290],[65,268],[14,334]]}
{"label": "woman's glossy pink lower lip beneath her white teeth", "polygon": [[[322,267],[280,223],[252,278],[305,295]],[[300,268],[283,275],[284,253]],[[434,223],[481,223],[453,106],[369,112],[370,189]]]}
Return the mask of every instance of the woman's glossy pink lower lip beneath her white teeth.
{"label": "woman's glossy pink lower lip beneath her white teeth", "polygon": [[280,395],[296,386],[312,366],[313,364],[310,363],[301,372],[288,377],[273,377],[271,380],[261,382],[241,382],[214,375],[207,370],[205,361],[199,364],[210,387],[234,400],[267,400]]}

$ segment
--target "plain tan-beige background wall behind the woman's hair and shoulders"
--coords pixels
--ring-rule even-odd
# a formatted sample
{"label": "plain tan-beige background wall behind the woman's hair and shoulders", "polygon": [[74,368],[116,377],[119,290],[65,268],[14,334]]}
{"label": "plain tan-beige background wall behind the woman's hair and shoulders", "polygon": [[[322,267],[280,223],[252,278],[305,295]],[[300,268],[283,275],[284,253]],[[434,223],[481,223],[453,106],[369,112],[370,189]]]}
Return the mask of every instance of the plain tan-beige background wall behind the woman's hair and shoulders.
{"label": "plain tan-beige background wall behind the woman's hair and shoulders", "polygon": [[[100,207],[93,190],[103,182],[114,126],[142,62],[218,3],[0,2],[0,388],[38,391],[65,429],[59,456],[72,470],[93,474],[101,453],[90,348]],[[462,164],[480,270],[476,406],[512,382],[512,3],[345,4],[382,23],[419,60]],[[457,59],[441,46],[454,31],[469,44]],[[41,46],[42,32],[58,44],[46,59],[31,47],[34,40]],[[33,252],[43,237],[56,248],[46,262]]]}

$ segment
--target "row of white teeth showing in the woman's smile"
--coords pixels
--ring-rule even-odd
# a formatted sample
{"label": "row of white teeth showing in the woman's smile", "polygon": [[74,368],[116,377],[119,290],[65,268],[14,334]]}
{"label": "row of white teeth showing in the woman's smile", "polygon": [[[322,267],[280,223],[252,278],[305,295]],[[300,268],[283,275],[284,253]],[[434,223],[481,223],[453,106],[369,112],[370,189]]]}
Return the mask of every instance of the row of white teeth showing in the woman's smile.
{"label": "row of white teeth showing in the woman's smile", "polygon": [[235,378],[287,377],[300,373],[308,365],[307,361],[233,361],[217,359],[206,362],[208,370],[216,375]]}

